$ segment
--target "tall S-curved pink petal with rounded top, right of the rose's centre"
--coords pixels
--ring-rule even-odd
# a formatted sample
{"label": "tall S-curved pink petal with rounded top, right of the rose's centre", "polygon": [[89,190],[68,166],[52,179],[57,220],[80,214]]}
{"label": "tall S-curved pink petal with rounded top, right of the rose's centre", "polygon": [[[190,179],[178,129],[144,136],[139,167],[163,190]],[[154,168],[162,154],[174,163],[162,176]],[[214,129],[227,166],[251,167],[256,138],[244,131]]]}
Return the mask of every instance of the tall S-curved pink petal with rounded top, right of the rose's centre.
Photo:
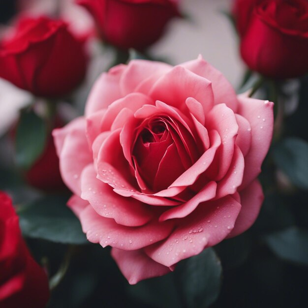
{"label": "tall S-curved pink petal with rounded top, right of the rose's centre", "polygon": [[[239,126],[236,122],[234,112],[225,104],[215,105],[206,118],[208,130],[215,129],[221,138],[219,156],[216,155],[218,174],[212,175],[211,179],[221,180],[230,167],[234,152],[234,143]],[[217,161],[218,159],[218,161]]]}

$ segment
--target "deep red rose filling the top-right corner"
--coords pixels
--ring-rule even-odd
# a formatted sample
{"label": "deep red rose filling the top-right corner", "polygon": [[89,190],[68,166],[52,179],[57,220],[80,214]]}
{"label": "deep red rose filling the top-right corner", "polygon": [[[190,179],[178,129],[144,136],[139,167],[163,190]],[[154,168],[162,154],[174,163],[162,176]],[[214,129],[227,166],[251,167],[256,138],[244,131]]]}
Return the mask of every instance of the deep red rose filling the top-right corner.
{"label": "deep red rose filling the top-right corner", "polygon": [[273,78],[308,72],[307,0],[236,0],[233,12],[250,69]]}

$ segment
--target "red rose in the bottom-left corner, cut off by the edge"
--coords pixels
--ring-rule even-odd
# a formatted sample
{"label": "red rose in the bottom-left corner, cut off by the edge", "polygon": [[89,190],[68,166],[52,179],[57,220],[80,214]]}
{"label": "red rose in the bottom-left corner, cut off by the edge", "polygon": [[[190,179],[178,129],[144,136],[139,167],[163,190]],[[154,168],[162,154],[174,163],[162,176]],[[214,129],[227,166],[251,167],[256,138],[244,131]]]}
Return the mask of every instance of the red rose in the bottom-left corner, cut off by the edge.
{"label": "red rose in the bottom-left corner, cut off by the edge", "polygon": [[0,192],[0,307],[44,308],[48,298],[46,274],[22,239],[10,198]]}

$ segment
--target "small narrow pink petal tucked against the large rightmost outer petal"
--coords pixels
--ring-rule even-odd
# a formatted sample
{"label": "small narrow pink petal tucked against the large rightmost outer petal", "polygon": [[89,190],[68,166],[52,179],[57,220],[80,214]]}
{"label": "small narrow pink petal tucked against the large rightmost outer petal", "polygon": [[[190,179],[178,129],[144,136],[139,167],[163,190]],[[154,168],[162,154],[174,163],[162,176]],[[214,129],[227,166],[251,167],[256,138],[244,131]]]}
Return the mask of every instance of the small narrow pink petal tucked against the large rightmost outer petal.
{"label": "small narrow pink petal tucked against the large rightmost outer petal", "polygon": [[241,149],[244,157],[250,150],[251,145],[251,127],[249,122],[240,115],[235,115],[236,122],[239,125],[238,135],[235,140],[235,144]]}

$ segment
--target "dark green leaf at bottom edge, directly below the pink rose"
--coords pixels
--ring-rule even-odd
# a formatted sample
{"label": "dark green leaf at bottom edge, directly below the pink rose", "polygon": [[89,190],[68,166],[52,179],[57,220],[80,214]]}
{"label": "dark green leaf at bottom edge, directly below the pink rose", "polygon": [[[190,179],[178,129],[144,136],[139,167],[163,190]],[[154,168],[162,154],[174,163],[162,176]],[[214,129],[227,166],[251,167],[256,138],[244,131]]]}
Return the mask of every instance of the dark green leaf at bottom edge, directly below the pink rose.
{"label": "dark green leaf at bottom edge, directly below the pink rose", "polygon": [[182,271],[183,293],[188,308],[206,308],[220,291],[222,268],[213,248],[189,258]]}

